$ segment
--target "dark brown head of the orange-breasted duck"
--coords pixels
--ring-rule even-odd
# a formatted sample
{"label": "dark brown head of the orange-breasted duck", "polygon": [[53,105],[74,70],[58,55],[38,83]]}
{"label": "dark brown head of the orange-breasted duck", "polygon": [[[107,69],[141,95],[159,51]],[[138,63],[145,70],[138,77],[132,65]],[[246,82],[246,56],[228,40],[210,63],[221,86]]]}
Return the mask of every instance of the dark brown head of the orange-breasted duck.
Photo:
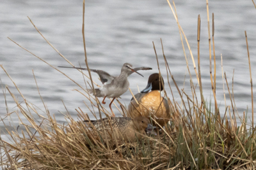
{"label": "dark brown head of the orange-breasted duck", "polygon": [[151,74],[148,77],[147,87],[141,91],[141,93],[147,93],[149,90],[160,90],[164,89],[164,79],[162,76],[159,76],[158,73]]}

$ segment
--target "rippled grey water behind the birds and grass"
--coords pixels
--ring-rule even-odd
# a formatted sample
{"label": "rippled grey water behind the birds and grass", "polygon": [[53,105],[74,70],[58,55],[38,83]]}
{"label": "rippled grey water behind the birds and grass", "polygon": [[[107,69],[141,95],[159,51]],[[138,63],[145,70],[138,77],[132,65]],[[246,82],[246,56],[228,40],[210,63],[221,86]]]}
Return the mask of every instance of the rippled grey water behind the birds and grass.
{"label": "rippled grey water behind the birds and grass", "polygon": [[[175,1],[180,25],[188,38],[197,67],[197,17],[201,16],[200,56],[202,70],[202,86],[205,99],[210,101],[211,81],[209,74],[209,45],[207,30],[207,11],[205,1]],[[19,87],[26,99],[44,110],[44,106],[38,95],[33,72],[51,115],[55,115],[58,122],[66,122],[61,113],[67,110],[74,119],[77,117],[75,109],[81,108],[88,113],[84,105],[88,101],[74,89],[79,89],[75,83],[68,80],[63,74],[54,70],[49,65],[37,59],[19,46],[15,45],[7,37],[12,38],[19,45],[24,46],[38,57],[49,62],[54,67],[69,66],[64,59],[56,53],[50,45],[38,34],[29,18],[44,34],[45,38],[59,50],[70,62],[82,67],[84,63],[84,49],[82,37],[82,1],[13,1],[2,0],[0,6],[0,64],[12,76],[13,81]],[[252,1],[210,1],[209,13],[214,13],[215,18],[215,51],[216,51],[216,96],[220,104],[221,114],[225,111],[223,97],[223,81],[221,78],[221,61],[223,55],[223,69],[227,74],[228,85],[232,90],[232,76],[234,71],[234,98],[239,115],[243,115],[248,107],[248,114],[252,112],[250,72],[248,67],[248,55],[244,31],[247,31],[252,66],[252,79],[255,82],[256,68],[256,10]],[[210,16],[211,20],[211,16]],[[134,67],[150,66],[152,71],[140,71],[144,78],[138,74],[132,74],[129,78],[132,92],[136,93],[137,86],[142,90],[147,85],[147,78],[152,73],[157,73],[156,55],[152,41],[156,45],[161,73],[166,87],[166,69],[164,66],[161,41],[163,39],[164,53],[168,60],[172,74],[180,88],[185,84],[185,91],[190,94],[189,75],[186,69],[186,60],[180,43],[179,29],[166,1],[86,1],[85,7],[85,39],[86,51],[90,68],[102,69],[109,74],[118,75],[124,62],[130,62]],[[184,40],[184,39],[183,39]],[[187,45],[186,55],[189,57]],[[212,55],[213,57],[213,55]],[[191,57],[189,67],[196,83],[195,71]],[[83,76],[76,69],[61,69],[70,78],[84,85]],[[184,83],[184,77],[185,83]],[[93,73],[93,80],[97,80],[97,74]],[[19,92],[12,81],[0,70],[1,81],[8,85],[12,93],[22,101]],[[170,82],[174,91],[175,100],[180,101],[179,94],[175,90],[173,82]],[[168,94],[170,90],[167,89]],[[253,88],[254,91],[256,90]],[[79,89],[80,90],[80,89]],[[230,105],[227,86],[225,85],[227,104]],[[172,97],[170,95],[170,97]],[[199,97],[199,94],[198,94]],[[131,94],[127,91],[120,100],[128,106]],[[13,99],[6,93],[9,111],[15,111]],[[63,103],[62,101],[63,100]],[[102,99],[100,99],[101,101]],[[255,96],[253,100],[256,101]],[[106,103],[108,108],[109,101]],[[3,92],[0,94],[0,116],[6,115]],[[114,110],[116,111],[116,110]],[[61,113],[60,113],[61,112]],[[20,120],[17,115],[12,116],[12,121],[17,127]],[[26,119],[19,113],[20,118],[26,123]],[[256,115],[256,114],[255,114]],[[90,115],[92,116],[92,115]],[[120,115],[116,115],[120,116]],[[256,120],[256,118],[254,118]],[[8,119],[5,119],[8,124]],[[13,127],[13,124],[10,125]],[[3,123],[0,122],[3,131]],[[6,136],[3,135],[3,139]]]}

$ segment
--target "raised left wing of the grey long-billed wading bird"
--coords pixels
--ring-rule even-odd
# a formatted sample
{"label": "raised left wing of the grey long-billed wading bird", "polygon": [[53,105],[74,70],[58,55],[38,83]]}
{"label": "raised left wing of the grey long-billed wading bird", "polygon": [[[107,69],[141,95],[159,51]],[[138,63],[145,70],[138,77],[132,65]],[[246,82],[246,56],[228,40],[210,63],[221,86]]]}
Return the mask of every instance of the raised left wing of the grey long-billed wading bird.
{"label": "raised left wing of the grey long-billed wading bird", "polygon": [[[87,70],[86,68],[81,68],[81,67],[65,67],[65,66],[58,66],[58,67]],[[102,84],[104,84],[104,83],[109,84],[115,78],[114,76],[111,76],[106,71],[103,71],[100,69],[90,69],[90,71],[93,71],[94,73],[97,73],[99,75],[100,81],[102,82]]]}

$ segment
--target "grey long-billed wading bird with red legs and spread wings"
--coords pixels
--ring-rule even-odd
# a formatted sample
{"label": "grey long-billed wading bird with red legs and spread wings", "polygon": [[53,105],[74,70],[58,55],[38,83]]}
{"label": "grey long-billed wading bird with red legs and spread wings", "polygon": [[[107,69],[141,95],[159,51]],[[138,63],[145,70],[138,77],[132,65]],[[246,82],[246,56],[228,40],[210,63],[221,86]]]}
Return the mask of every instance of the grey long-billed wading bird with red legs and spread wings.
{"label": "grey long-billed wading bird with red legs and spread wings", "polygon": [[[58,66],[58,67],[63,67],[63,66]],[[86,70],[86,68],[81,68],[81,67],[65,67],[65,68]],[[100,89],[95,89],[95,94],[93,94],[93,96],[104,97],[102,104],[106,104],[106,102],[104,102],[106,97],[113,98],[113,100],[109,104],[109,108],[111,110],[113,117],[115,117],[115,113],[113,113],[111,104],[113,103],[113,101],[115,100],[116,97],[120,97],[122,94],[124,94],[129,89],[129,81],[127,79],[128,76],[134,72],[137,74],[140,74],[137,72],[138,70],[148,70],[148,69],[152,69],[152,68],[136,67],[133,69],[132,64],[125,63],[121,69],[121,73],[119,76],[111,76],[106,71],[102,71],[99,69],[90,69],[90,71],[93,71],[99,75],[100,81],[103,84],[103,86],[100,87]],[[141,75],[141,76],[143,76],[143,75]],[[92,94],[93,89],[88,89],[88,92]]]}

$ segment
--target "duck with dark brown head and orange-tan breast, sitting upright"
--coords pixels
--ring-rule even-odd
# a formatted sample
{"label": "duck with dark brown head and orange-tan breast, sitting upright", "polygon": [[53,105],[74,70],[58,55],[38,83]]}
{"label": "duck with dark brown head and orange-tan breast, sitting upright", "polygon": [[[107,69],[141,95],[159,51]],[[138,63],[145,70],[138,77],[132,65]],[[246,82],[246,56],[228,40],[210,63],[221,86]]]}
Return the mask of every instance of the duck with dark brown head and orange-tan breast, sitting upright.
{"label": "duck with dark brown head and orange-tan breast, sitting upright", "polygon": [[[163,77],[158,73],[151,74],[148,77],[148,85],[140,93],[132,97],[128,106],[127,117],[150,117],[164,126],[170,120],[170,106],[168,101],[161,97],[161,91],[164,87]],[[151,92],[149,92],[151,90]]]}

